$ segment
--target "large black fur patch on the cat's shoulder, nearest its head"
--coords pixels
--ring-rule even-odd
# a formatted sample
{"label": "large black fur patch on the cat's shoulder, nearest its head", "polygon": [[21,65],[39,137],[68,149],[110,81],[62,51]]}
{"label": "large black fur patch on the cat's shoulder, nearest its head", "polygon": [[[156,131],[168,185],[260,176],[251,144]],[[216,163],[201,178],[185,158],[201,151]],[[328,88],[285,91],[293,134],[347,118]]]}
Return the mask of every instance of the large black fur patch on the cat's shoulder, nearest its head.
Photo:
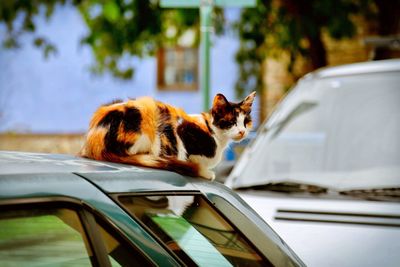
{"label": "large black fur patch on the cat's shoulder, nearest its head", "polygon": [[177,128],[177,133],[185,146],[186,153],[212,158],[215,156],[217,144],[214,138],[203,131],[197,124],[183,121]]}

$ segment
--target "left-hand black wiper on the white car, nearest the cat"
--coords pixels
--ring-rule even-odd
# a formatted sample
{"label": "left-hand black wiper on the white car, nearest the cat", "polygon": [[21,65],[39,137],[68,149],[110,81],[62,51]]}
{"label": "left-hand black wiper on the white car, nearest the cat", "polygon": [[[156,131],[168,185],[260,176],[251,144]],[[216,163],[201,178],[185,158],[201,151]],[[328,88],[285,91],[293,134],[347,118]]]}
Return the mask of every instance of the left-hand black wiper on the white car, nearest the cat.
{"label": "left-hand black wiper on the white car, nearest the cat", "polygon": [[295,182],[279,182],[279,183],[267,183],[262,185],[252,185],[246,187],[236,188],[237,190],[256,190],[256,191],[274,191],[283,193],[311,193],[311,194],[326,194],[328,188],[302,184]]}

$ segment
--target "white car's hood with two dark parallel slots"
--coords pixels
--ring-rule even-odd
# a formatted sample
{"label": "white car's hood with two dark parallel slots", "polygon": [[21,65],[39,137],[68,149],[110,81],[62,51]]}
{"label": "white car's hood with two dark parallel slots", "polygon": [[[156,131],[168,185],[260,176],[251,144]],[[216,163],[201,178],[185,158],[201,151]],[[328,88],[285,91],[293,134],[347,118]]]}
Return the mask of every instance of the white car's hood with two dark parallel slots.
{"label": "white car's hood with two dark parallel slots", "polygon": [[400,203],[239,194],[307,266],[400,263]]}

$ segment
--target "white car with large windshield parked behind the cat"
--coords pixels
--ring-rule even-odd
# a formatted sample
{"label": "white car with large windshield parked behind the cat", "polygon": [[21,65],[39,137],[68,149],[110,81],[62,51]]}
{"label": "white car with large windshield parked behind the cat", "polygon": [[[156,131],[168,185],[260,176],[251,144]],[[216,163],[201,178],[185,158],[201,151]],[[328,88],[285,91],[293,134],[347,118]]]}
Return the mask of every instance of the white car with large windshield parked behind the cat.
{"label": "white car with large windshield parked behind the cat", "polygon": [[307,266],[400,266],[400,60],[306,75],[226,185]]}

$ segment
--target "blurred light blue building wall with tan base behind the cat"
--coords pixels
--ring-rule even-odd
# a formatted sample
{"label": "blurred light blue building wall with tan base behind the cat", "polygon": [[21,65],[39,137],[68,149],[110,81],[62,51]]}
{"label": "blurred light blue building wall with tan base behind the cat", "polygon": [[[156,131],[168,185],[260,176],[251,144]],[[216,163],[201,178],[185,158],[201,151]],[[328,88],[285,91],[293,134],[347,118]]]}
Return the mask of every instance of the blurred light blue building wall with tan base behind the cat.
{"label": "blurred light blue building wall with tan base behind the cat", "polygon": [[[227,9],[226,19],[235,20],[239,9]],[[106,74],[93,76],[88,47],[80,39],[87,31],[71,6],[57,7],[47,21],[36,18],[36,36],[57,47],[57,54],[44,59],[33,46],[33,36],[21,38],[17,50],[0,48],[0,150],[76,154],[96,108],[113,99],[152,96],[183,108],[202,111],[201,92],[160,92],[155,58],[127,58],[135,67],[134,78],[120,81]],[[0,36],[5,34],[0,26]],[[237,37],[232,32],[213,36],[211,49],[211,98],[223,93],[235,100]]]}

